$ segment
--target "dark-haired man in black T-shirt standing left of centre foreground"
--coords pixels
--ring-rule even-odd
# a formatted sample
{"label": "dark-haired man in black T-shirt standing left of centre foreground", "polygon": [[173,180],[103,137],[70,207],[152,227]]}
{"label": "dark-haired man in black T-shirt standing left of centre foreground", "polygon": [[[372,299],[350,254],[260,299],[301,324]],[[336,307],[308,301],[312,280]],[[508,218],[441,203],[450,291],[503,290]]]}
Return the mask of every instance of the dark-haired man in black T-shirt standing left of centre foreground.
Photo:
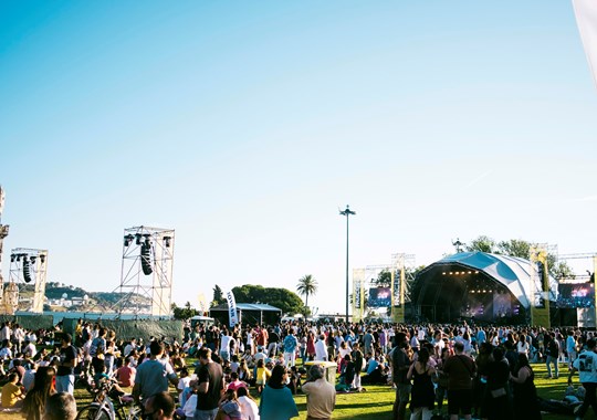
{"label": "dark-haired man in black T-shirt standing left of centre foreground", "polygon": [[195,420],[213,420],[218,414],[218,408],[224,379],[222,367],[211,359],[211,350],[202,347],[197,351],[199,367],[197,375],[197,409]]}

